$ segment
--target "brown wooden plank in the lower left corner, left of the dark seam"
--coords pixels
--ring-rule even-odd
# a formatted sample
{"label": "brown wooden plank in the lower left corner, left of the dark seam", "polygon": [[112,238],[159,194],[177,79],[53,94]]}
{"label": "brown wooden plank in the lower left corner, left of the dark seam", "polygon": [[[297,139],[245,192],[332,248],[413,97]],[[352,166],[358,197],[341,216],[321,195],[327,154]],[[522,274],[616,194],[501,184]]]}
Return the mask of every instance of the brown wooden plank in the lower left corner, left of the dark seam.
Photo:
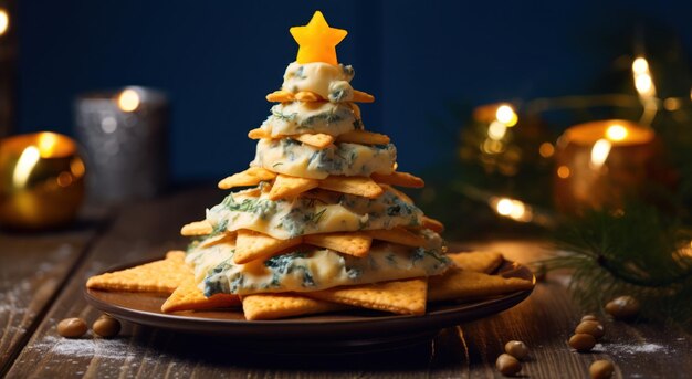
{"label": "brown wooden plank in the lower left corner, left of the dark seam", "polygon": [[0,375],[29,339],[95,227],[50,233],[0,233]]}

